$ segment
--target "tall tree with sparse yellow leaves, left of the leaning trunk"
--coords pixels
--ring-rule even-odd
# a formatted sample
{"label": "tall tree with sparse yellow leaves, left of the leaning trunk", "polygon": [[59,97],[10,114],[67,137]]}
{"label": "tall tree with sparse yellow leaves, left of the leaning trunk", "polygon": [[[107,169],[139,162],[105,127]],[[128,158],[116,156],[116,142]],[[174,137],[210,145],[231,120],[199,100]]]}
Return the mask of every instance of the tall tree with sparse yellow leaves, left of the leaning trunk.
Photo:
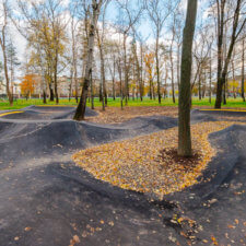
{"label": "tall tree with sparse yellow leaves, left of the leaning trunk", "polygon": [[58,104],[58,74],[65,68],[61,57],[66,49],[66,27],[69,23],[65,19],[65,0],[31,0],[30,2],[17,0],[17,3],[21,14],[20,23],[24,20],[24,25],[17,24],[16,16],[12,20],[20,33],[27,38],[31,50],[39,57],[36,60],[42,61],[44,56],[45,69],[43,70],[45,70],[44,77],[50,91],[50,101],[54,101],[56,96]]}

